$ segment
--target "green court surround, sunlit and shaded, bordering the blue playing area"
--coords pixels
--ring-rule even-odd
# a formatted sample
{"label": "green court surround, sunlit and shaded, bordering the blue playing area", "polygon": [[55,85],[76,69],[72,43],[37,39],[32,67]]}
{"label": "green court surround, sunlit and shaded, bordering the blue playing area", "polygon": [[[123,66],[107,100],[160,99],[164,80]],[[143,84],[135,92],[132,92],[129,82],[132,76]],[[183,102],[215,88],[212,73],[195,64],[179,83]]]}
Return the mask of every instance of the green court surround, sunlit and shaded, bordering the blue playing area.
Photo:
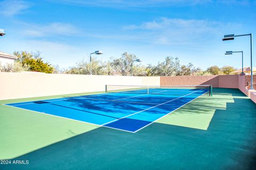
{"label": "green court surround, sunlit and shaded, bordering the blue playing area", "polygon": [[199,97],[137,133],[5,105],[0,120],[0,159],[29,161],[0,169],[253,169],[256,164],[256,104],[238,89],[215,88],[212,97]]}

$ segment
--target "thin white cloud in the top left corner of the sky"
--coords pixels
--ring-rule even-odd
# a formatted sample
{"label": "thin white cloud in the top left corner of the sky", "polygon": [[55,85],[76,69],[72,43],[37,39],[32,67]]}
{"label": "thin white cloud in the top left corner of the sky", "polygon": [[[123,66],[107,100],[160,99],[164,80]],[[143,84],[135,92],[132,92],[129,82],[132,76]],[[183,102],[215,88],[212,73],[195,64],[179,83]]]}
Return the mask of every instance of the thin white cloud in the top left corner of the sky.
{"label": "thin white cloud in the top left corner of the sky", "polygon": [[0,14],[4,16],[14,16],[27,10],[31,3],[25,1],[0,1]]}

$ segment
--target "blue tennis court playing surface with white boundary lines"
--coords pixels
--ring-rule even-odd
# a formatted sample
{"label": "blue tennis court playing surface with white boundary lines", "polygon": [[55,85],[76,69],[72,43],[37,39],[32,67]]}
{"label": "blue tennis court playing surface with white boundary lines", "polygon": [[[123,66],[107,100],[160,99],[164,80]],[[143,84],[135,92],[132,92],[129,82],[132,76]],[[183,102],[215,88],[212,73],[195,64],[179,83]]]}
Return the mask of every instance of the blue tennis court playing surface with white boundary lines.
{"label": "blue tennis court playing surface with white boundary lines", "polygon": [[7,105],[107,128],[137,132],[206,92],[209,90],[190,89],[182,96],[105,93]]}

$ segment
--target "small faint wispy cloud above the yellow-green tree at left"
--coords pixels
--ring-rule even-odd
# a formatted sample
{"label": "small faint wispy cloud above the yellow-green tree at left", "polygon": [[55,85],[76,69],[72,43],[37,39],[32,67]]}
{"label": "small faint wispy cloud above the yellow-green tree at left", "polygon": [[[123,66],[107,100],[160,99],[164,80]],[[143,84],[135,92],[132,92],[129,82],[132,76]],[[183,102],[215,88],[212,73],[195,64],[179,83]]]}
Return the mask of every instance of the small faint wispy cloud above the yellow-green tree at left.
{"label": "small faint wispy cloud above the yellow-green tree at left", "polygon": [[68,36],[79,32],[78,28],[69,23],[23,24],[26,25],[23,35],[31,37],[47,37],[52,35]]}

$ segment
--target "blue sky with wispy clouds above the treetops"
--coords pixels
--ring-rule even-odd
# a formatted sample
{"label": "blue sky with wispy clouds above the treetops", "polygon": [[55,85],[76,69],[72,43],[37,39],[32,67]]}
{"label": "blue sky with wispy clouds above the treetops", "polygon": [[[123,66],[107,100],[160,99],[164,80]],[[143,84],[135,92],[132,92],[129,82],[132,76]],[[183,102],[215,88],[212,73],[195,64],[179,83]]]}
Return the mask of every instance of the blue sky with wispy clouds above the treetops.
{"label": "blue sky with wispy clouds above the treetops", "polygon": [[39,50],[44,61],[69,67],[94,50],[102,61],[123,52],[137,55],[142,64],[157,64],[166,56],[181,64],[250,65],[250,38],[222,41],[225,34],[254,35],[256,64],[256,1],[210,0],[41,0],[1,1],[0,50]]}

